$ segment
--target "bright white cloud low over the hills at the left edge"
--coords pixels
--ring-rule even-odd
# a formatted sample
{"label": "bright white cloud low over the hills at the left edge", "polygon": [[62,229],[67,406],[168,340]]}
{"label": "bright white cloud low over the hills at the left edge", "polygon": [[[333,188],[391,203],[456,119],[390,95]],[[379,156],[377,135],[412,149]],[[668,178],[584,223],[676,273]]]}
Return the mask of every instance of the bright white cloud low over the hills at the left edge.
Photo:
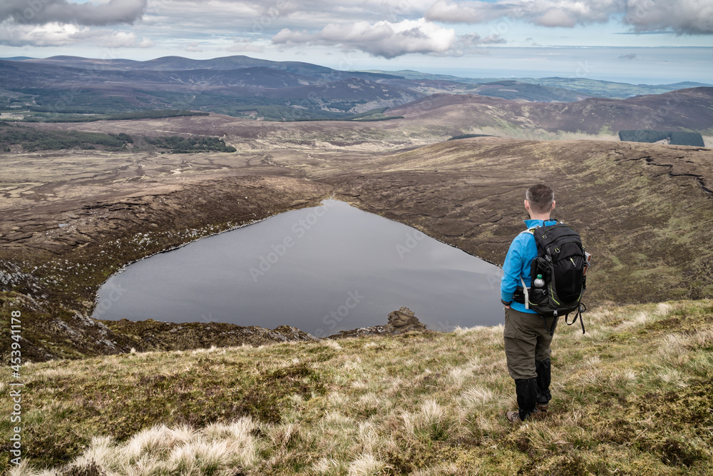
{"label": "bright white cloud low over the hills at the left edge", "polygon": [[68,46],[91,43],[103,48],[148,48],[153,41],[138,41],[133,33],[95,30],[86,26],[60,24],[18,25],[5,21],[0,28],[0,44],[8,46]]}

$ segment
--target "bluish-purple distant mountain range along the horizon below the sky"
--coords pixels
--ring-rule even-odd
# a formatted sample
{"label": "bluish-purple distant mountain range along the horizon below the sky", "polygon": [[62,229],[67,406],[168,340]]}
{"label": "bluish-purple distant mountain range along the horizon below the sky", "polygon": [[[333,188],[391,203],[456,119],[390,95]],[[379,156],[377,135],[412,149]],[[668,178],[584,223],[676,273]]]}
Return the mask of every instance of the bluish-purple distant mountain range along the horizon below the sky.
{"label": "bluish-purple distant mountain range along the horizon below the sky", "polygon": [[[527,103],[576,103],[590,98],[626,98],[708,86],[627,85],[563,78],[468,79],[417,71],[340,71],[299,61],[248,56],[207,60],[166,56],[149,61],[77,56],[14,58],[0,60],[0,80],[0,110],[26,112],[39,120],[46,113],[167,108],[272,121],[344,119],[355,115],[381,119],[385,117],[384,108],[396,108],[434,94],[502,98],[523,103],[513,108],[525,108]],[[399,115],[394,111],[389,114]]]}

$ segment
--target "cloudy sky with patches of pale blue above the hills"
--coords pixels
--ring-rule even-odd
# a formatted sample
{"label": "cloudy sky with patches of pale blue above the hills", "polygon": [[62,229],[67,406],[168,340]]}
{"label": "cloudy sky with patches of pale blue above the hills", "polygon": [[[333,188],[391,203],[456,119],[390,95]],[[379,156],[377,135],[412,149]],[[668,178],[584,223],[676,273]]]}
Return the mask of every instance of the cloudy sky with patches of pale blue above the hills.
{"label": "cloudy sky with patches of pale blue above the hills", "polygon": [[713,83],[713,0],[0,0],[0,57]]}

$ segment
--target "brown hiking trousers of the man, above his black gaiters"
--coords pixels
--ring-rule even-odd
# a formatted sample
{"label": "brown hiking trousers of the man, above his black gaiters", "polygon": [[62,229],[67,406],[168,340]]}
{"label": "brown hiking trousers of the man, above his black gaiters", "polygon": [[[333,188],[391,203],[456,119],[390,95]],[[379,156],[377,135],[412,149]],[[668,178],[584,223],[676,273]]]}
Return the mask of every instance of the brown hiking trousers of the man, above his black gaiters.
{"label": "brown hiking trousers of the man, above his black gaiters", "polygon": [[[545,330],[545,319],[539,314],[505,309],[505,356],[508,373],[515,380],[537,377],[535,360],[550,357],[552,335]],[[547,318],[550,328],[553,318]]]}

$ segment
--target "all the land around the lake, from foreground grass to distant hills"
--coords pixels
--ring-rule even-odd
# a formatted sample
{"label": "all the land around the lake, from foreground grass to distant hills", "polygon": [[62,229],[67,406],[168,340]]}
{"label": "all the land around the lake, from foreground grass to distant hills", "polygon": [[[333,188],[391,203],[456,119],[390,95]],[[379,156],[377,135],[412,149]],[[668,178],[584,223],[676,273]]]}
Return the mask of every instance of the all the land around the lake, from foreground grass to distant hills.
{"label": "all the land around the lake, from foreground grass to distant hills", "polygon": [[[16,63],[0,61],[0,314],[21,316],[29,461],[14,474],[709,474],[713,88]],[[326,198],[501,266],[537,182],[593,268],[587,333],[560,325],[555,399],[525,425],[502,415],[502,326],[424,330],[409,302],[327,338],[287,317],[91,317],[126,265]]]}

